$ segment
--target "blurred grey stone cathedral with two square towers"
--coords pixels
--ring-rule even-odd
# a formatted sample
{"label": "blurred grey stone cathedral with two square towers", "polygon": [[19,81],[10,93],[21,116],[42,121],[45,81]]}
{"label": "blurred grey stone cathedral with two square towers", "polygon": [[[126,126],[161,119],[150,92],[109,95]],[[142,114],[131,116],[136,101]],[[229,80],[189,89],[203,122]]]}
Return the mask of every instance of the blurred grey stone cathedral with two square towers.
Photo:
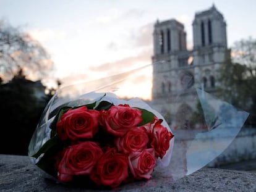
{"label": "blurred grey stone cathedral with two square towers", "polygon": [[226,22],[214,5],[196,12],[192,26],[192,50],[187,49],[184,25],[175,19],[157,20],[153,31],[152,102],[177,125],[196,109],[195,87],[216,92],[218,70],[228,53]]}

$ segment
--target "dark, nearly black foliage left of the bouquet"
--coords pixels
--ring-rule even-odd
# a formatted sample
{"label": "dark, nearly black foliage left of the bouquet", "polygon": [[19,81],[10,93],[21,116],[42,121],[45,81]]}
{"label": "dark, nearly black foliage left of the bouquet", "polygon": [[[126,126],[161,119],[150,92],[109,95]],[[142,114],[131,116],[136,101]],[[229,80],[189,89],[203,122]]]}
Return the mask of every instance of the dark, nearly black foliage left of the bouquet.
{"label": "dark, nearly black foliage left of the bouquet", "polygon": [[28,143],[49,97],[36,97],[44,90],[40,81],[25,79],[22,69],[9,83],[0,85],[0,154],[27,155]]}

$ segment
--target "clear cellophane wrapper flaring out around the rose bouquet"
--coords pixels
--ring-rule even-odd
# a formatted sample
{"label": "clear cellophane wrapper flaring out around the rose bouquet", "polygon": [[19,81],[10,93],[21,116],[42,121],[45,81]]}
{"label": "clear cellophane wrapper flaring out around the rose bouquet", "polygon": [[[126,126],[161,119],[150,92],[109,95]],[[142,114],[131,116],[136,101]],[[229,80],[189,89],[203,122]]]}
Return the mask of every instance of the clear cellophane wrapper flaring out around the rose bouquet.
{"label": "clear cellophane wrapper flaring out around the rose bouquet", "polygon": [[[140,174],[138,176],[137,173],[134,173],[135,170],[130,170],[129,166],[132,165],[129,160],[128,175],[124,176],[125,178],[121,182],[113,182],[109,185],[108,182],[106,182],[107,184],[104,181],[98,182],[97,178],[102,175],[95,176],[96,182],[94,182],[90,175],[88,176],[88,173],[82,178],[72,175],[71,178],[77,178],[76,180],[74,179],[74,182],[69,177],[70,169],[66,169],[65,166],[67,164],[64,164],[64,173],[67,173],[67,183],[70,185],[82,185],[85,188],[119,187],[123,189],[163,185],[163,183],[174,182],[185,175],[189,175],[213,161],[234,140],[249,114],[236,109],[231,104],[228,104],[228,102],[221,101],[213,96],[213,94],[209,94],[202,88],[195,86],[184,86],[185,88],[183,87],[179,91],[165,94],[158,101],[143,99],[141,91],[145,90],[145,83],[151,82],[148,82],[148,80],[136,82],[135,80],[141,77],[142,74],[150,73],[153,66],[154,64],[147,65],[130,72],[77,83],[58,90],[41,115],[41,119],[30,141],[28,155],[31,157],[32,162],[58,180],[60,173],[58,172],[58,165],[56,165],[56,156],[59,157],[57,162],[60,163],[64,158],[64,154],[63,152],[61,154],[61,151],[64,151],[65,148],[70,148],[69,145],[77,144],[77,141],[75,143],[72,141],[73,143],[69,142],[69,144],[61,146],[59,149],[55,149],[55,151],[53,150],[53,153],[49,153],[49,149],[56,146],[51,140],[54,135],[58,135],[54,129],[56,129],[58,121],[61,120],[60,111],[62,110],[63,112],[63,109],[67,109],[63,112],[65,114],[70,109],[90,106],[90,104],[94,104],[95,107],[101,102],[111,104],[111,106],[127,105],[132,109],[143,109],[153,114],[156,120],[151,119],[149,131],[152,132],[154,126],[156,127],[155,122],[160,120],[161,127],[166,128],[172,135],[168,140],[169,147],[161,157],[160,155],[156,156],[157,152],[151,152],[155,156],[156,162],[153,170],[148,175],[142,174],[141,177]],[[157,79],[154,79],[154,81],[157,81]],[[190,85],[189,80],[186,83]],[[132,93],[132,90],[138,91],[133,91]],[[184,95],[190,96],[186,97]],[[199,112],[197,107],[194,107],[194,109],[187,107],[186,103],[193,102],[200,104]],[[106,111],[108,110],[109,107]],[[136,125],[135,127],[140,126]],[[146,132],[149,133],[148,130]],[[108,137],[108,133],[106,133],[106,137]],[[152,142],[151,136],[148,136],[148,138],[147,147],[144,147],[143,150],[153,148],[153,144],[150,143]],[[92,140],[93,138],[83,138],[78,143]],[[61,142],[66,141],[61,140]],[[97,140],[97,142],[101,143],[101,140]],[[101,146],[101,148],[104,148],[103,153],[108,151],[109,148],[113,148],[113,146],[109,146],[109,144]],[[70,149],[67,150],[70,151]],[[122,151],[122,149],[117,148],[115,150],[116,152]],[[58,152],[60,155],[57,155]],[[126,156],[132,159],[130,153],[126,154]],[[47,167],[49,164],[51,169]],[[95,169],[94,167],[93,170]],[[97,174],[100,173],[97,172]],[[64,176],[66,177],[66,175]],[[82,174],[82,176],[84,175]],[[61,182],[65,183],[63,182],[64,180],[61,180]],[[85,182],[85,180],[88,180],[88,182]]]}

